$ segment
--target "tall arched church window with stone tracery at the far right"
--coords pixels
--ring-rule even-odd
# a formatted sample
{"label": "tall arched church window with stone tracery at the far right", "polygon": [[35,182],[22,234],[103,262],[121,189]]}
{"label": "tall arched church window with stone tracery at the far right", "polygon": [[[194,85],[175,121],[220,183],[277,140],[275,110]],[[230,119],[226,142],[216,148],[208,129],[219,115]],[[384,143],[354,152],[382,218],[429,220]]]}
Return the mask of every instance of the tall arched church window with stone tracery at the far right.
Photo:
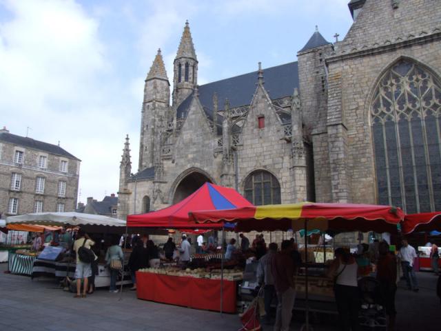
{"label": "tall arched church window with stone tracery at the far right", "polygon": [[441,84],[407,59],[380,79],[371,103],[378,203],[441,210]]}

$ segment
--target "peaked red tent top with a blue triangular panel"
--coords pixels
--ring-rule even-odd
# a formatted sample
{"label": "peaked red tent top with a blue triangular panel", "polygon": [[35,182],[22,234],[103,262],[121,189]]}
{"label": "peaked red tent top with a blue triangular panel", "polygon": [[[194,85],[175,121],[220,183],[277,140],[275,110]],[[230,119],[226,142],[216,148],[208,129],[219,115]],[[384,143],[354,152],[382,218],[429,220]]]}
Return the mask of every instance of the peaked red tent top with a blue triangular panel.
{"label": "peaked red tent top with a blue triangular panel", "polygon": [[162,229],[220,229],[223,223],[199,224],[189,219],[188,213],[198,210],[223,210],[250,207],[247,199],[233,188],[205,183],[183,201],[170,207],[127,216],[127,226]]}

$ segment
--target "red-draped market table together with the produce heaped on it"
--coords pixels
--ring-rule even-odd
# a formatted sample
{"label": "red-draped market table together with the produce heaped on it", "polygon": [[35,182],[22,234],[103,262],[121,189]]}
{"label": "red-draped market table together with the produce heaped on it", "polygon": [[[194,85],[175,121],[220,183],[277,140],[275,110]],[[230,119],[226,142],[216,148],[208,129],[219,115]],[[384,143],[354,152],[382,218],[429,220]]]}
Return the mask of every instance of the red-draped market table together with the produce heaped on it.
{"label": "red-draped market table together with the produce heaped on it", "polygon": [[236,312],[238,281],[243,277],[238,261],[225,261],[223,276],[220,259],[193,259],[182,267],[167,264],[136,272],[138,299],[220,311],[222,293],[222,311]]}

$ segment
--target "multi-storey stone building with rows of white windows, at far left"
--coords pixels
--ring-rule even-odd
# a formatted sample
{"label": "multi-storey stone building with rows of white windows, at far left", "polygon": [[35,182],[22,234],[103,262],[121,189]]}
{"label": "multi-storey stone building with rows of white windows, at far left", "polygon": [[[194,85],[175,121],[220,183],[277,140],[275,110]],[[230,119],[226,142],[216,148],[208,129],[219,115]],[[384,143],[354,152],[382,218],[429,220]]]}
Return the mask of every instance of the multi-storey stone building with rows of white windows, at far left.
{"label": "multi-storey stone building with rows of white windows, at far left", "polygon": [[75,210],[80,159],[60,146],[0,130],[0,214]]}

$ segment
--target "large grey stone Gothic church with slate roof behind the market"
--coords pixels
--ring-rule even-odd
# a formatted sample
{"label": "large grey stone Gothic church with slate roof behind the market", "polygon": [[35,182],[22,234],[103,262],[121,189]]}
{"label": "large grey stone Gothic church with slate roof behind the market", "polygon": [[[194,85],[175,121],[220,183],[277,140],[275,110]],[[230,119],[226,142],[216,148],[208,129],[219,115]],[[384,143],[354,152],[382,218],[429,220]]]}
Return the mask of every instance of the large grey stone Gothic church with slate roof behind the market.
{"label": "large grey stone Gothic church with slate roof behind the market", "polygon": [[342,41],[316,30],[298,61],[202,86],[185,23],[171,79],[161,50],[145,79],[138,171],[127,137],[119,218],[181,201],[205,181],[255,205],[441,210],[440,0],[348,6]]}

